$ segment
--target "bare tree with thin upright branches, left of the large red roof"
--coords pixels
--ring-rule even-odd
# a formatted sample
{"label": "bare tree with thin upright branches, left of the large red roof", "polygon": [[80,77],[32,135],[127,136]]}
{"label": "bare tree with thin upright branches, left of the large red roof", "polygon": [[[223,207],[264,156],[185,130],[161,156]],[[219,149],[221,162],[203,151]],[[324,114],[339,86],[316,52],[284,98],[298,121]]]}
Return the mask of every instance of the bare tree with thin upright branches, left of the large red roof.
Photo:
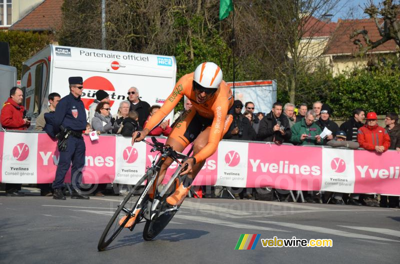
{"label": "bare tree with thin upright branches, left of the large red roof", "polygon": [[[262,40],[262,50],[267,53],[264,58],[269,60],[274,76],[284,82],[291,103],[298,92],[299,76],[312,71],[327,48],[330,32],[323,31],[333,31],[334,25],[329,28],[325,19],[337,3],[338,0],[253,0],[245,7],[253,16],[261,12],[267,19],[252,34]],[[252,8],[254,4],[261,10]]]}

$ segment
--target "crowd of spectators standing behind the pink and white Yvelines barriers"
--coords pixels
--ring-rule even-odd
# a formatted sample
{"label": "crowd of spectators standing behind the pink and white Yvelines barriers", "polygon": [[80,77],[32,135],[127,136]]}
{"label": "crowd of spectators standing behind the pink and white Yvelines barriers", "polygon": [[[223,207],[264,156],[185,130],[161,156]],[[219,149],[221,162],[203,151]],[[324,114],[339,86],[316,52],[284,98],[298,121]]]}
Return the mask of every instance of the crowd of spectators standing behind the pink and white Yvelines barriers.
{"label": "crowd of spectators standing behind the pink and white Yvelines barriers", "polygon": [[[48,107],[36,118],[34,130],[46,131],[46,113],[55,111],[60,100],[60,95],[51,93],[48,95]],[[1,126],[10,130],[27,130],[30,126],[30,118],[26,117],[26,111],[22,105],[22,90],[13,87],[9,92],[9,98],[1,109]],[[164,120],[149,135],[168,136],[174,123],[190,109],[191,102],[185,98],[184,109],[175,114],[173,120]],[[150,106],[139,97],[139,90],[130,87],[127,91],[127,100],[121,101],[117,113],[111,112],[109,95],[104,90],[95,93],[95,99],[89,106],[87,126],[85,133],[92,130],[99,134],[121,134],[130,137],[136,130],[141,130],[147,120],[159,110],[159,105]],[[233,121],[225,134],[224,139],[250,140],[273,142],[275,144],[292,145],[319,145],[332,148],[362,148],[376,153],[390,150],[400,152],[400,124],[396,113],[387,113],[384,119],[385,127],[377,124],[377,115],[374,112],[365,113],[363,109],[356,108],[351,117],[338,126],[331,120],[332,109],[328,104],[316,101],[312,108],[308,109],[306,103],[295,105],[275,102],[269,113],[254,112],[256,105],[253,102],[241,102],[235,100],[233,109]],[[365,121],[364,121],[365,120]],[[322,131],[326,136],[321,137]],[[324,133],[322,133],[324,134]],[[41,195],[51,196],[51,188],[40,185]],[[21,196],[18,192],[20,184],[6,184],[5,191],[9,196]],[[103,196],[105,185],[99,185],[95,191],[96,196]],[[231,189],[236,199],[258,198],[257,192],[251,188]],[[289,201],[289,191],[270,190],[268,200]],[[265,198],[265,197],[264,197]],[[304,200],[308,203],[329,202],[338,205],[366,205],[395,208],[399,206],[396,196],[380,196],[378,201],[374,195],[342,194],[307,192]]]}

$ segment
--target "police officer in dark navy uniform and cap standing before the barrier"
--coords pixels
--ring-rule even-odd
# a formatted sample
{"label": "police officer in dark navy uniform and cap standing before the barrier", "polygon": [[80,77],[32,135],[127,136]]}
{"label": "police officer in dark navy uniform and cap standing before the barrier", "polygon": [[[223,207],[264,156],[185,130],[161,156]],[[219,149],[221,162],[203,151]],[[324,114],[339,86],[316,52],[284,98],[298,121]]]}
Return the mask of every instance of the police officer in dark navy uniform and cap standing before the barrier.
{"label": "police officer in dark navy uniform and cap standing before the barrier", "polygon": [[61,132],[66,132],[66,148],[59,152],[59,161],[55,172],[55,179],[52,184],[54,190],[53,199],[65,200],[61,188],[64,186],[65,174],[71,168],[71,183],[73,199],[89,199],[79,190],[79,181],[82,178],[82,169],[85,160],[85,150],[82,131],[86,129],[86,112],[80,95],[83,89],[82,77],[69,77],[70,93],[63,97],[57,104],[53,119],[54,135],[60,132],[60,126],[64,128]]}

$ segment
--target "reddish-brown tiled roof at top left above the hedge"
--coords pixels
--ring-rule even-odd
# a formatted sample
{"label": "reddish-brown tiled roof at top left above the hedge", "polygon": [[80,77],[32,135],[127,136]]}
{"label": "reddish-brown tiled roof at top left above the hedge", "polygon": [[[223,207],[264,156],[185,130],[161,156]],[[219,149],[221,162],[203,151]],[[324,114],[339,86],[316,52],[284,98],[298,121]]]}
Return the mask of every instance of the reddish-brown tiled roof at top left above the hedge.
{"label": "reddish-brown tiled roof at top left above the hedge", "polygon": [[64,0],[44,0],[19,19],[10,30],[57,30],[61,27],[61,5]]}

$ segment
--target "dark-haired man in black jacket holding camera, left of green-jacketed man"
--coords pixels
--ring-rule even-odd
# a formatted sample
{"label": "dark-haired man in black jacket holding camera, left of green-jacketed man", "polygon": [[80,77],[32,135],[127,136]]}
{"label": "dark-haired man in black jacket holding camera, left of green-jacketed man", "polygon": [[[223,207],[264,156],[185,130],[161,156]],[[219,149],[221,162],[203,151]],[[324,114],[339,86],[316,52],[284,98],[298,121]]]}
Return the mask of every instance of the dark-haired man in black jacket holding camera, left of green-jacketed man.
{"label": "dark-haired man in black jacket holding camera, left of green-jacketed man", "polygon": [[291,137],[289,121],[282,115],[282,104],[275,102],[272,110],[260,121],[257,138],[266,142],[281,144]]}

